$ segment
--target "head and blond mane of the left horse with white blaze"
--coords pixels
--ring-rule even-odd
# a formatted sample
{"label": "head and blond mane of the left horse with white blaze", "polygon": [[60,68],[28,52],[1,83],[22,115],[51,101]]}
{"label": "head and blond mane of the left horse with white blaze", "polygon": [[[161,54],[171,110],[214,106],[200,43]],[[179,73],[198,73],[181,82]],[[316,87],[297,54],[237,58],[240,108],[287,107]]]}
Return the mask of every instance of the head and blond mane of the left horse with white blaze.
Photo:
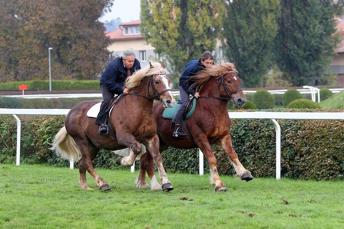
{"label": "head and blond mane of the left horse with white blaze", "polygon": [[130,78],[127,78],[125,85],[130,91],[133,91],[134,88],[139,87],[141,81],[147,82],[146,89],[143,89],[141,86],[142,90],[146,90],[146,93],[143,95],[142,90],[141,92],[136,90],[138,96],[158,100],[162,102],[164,107],[173,107],[176,100],[171,93],[169,79],[166,77],[166,72],[161,64],[149,62],[148,66],[135,72]]}

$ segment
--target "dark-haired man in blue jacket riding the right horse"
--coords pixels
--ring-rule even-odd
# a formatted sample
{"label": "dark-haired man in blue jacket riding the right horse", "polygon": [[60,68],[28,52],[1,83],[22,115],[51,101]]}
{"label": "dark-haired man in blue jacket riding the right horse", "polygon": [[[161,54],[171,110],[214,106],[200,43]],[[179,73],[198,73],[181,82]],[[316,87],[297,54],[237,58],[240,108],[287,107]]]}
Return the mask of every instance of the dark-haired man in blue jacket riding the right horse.
{"label": "dark-haired man in blue jacket riding the right horse", "polygon": [[186,136],[182,130],[181,123],[184,117],[184,112],[186,106],[188,105],[189,95],[193,95],[195,98],[199,97],[199,92],[192,88],[191,85],[193,82],[188,81],[190,76],[194,76],[205,68],[209,68],[213,65],[213,55],[210,51],[205,51],[201,55],[199,60],[190,61],[184,68],[182,76],[179,79],[179,91],[181,95],[181,105],[172,119],[172,122],[175,124],[175,130],[173,132],[173,137],[181,138]]}

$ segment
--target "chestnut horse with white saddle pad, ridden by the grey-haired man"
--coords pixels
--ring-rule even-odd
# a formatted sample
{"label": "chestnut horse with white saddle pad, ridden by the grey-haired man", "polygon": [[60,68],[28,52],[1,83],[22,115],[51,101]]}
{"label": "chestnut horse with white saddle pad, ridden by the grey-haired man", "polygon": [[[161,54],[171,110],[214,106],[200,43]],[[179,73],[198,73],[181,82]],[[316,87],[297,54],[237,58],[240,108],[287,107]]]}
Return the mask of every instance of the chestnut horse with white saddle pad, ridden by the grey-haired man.
{"label": "chestnut horse with white saddle pad, ridden by the grey-haired man", "polygon": [[169,79],[159,63],[150,63],[127,78],[125,86],[129,92],[116,101],[109,115],[109,124],[116,138],[110,134],[99,135],[98,126],[94,124],[95,118],[86,115],[87,111],[101,100],[80,102],[69,111],[65,126],[55,136],[51,149],[67,159],[79,160],[81,189],[90,189],[86,181],[86,170],[100,190],[110,189],[92,165],[92,160],[100,148],[119,150],[131,147],[133,155],[126,161],[120,161],[124,166],[131,166],[136,156],[141,153],[140,143],[152,154],[159,170],[162,186],[156,183],[152,189],[173,189],[162,165],[157,125],[152,111],[154,99],[161,101],[162,106],[173,106],[175,98],[168,84]]}

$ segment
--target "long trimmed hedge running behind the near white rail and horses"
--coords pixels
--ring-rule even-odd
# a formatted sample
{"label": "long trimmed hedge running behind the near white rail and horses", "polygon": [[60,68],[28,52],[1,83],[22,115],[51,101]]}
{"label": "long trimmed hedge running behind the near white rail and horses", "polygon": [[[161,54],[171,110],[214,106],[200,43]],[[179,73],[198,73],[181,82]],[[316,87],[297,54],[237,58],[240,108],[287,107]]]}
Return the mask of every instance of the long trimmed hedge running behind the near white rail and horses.
{"label": "long trimmed hedge running behind the near white rail and horses", "polygon": [[[315,112],[299,109],[282,111]],[[344,108],[320,111],[344,112]],[[22,121],[23,163],[68,166],[68,161],[56,157],[48,149],[52,138],[64,125],[64,116],[19,116],[19,119]],[[344,180],[344,121],[278,120],[278,123],[282,131],[282,177]],[[2,116],[0,135],[0,163],[15,163],[16,122],[12,116]],[[270,121],[232,120],[231,136],[241,163],[253,176],[275,176],[275,129]],[[235,171],[227,155],[218,146],[213,145],[212,149],[217,158],[219,173],[233,175]],[[197,149],[169,147],[162,156],[166,171],[198,173]],[[96,167],[119,168],[116,159],[113,153],[101,150],[93,163]],[[209,169],[207,162],[204,165],[205,170]],[[138,166],[139,163],[136,163]]]}

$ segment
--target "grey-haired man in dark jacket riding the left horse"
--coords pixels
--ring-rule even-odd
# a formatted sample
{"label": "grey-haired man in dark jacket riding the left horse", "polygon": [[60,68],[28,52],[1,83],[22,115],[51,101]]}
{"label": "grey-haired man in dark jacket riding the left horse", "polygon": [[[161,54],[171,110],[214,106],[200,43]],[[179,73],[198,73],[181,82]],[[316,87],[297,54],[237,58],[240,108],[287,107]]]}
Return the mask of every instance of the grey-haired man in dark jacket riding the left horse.
{"label": "grey-haired man in dark jacket riding the left horse", "polygon": [[99,134],[106,135],[108,127],[105,124],[105,119],[108,113],[106,112],[111,99],[114,94],[120,95],[127,93],[128,88],[124,88],[124,82],[128,76],[131,76],[136,70],[141,69],[140,62],[135,58],[133,49],[128,48],[124,50],[120,56],[113,59],[106,67],[104,73],[100,78],[100,89],[104,100],[100,105],[95,124],[99,127]]}

